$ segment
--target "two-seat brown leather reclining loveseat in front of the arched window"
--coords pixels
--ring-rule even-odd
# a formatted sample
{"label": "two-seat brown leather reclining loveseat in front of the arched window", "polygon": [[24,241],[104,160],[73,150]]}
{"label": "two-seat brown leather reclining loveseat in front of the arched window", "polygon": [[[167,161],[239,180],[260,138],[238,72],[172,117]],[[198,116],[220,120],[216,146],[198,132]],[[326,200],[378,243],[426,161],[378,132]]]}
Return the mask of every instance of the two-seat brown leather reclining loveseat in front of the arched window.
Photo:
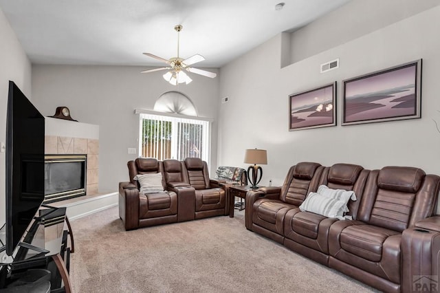
{"label": "two-seat brown leather reclining loveseat in front of the arched window", "polygon": [[[127,166],[130,182],[119,183],[119,216],[125,230],[229,214],[223,181],[210,179],[206,162],[198,158],[137,158]],[[140,192],[135,177],[158,173],[161,190]]]}

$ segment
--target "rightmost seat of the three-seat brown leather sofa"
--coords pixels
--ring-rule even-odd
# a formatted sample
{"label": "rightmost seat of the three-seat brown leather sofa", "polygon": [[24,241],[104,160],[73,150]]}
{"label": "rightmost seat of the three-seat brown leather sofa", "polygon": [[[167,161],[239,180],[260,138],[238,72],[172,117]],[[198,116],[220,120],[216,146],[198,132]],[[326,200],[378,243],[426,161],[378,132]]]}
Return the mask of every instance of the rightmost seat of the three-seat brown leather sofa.
{"label": "rightmost seat of the three-seat brown leather sofa", "polygon": [[[371,171],[356,217],[330,227],[329,267],[385,292],[411,292],[417,275],[425,274],[419,270],[420,263],[430,275],[431,259],[438,260],[438,253],[433,258],[430,250],[421,253],[423,237],[417,237],[425,235],[430,242],[430,232],[414,227],[434,213],[439,179],[412,167]],[[412,233],[410,238],[416,241],[405,245],[412,240],[402,241],[402,232]],[[428,243],[423,246],[430,248]],[[438,265],[438,261],[432,263]]]}

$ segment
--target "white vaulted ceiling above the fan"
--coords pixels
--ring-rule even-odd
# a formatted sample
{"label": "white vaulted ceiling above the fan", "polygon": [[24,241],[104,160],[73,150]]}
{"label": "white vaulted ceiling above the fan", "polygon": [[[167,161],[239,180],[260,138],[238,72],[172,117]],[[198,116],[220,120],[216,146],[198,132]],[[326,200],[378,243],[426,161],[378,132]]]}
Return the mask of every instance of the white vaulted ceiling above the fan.
{"label": "white vaulted ceiling above the fan", "polygon": [[[283,10],[275,5],[285,2]],[[221,67],[349,0],[0,0],[32,63],[143,65],[201,54]]]}

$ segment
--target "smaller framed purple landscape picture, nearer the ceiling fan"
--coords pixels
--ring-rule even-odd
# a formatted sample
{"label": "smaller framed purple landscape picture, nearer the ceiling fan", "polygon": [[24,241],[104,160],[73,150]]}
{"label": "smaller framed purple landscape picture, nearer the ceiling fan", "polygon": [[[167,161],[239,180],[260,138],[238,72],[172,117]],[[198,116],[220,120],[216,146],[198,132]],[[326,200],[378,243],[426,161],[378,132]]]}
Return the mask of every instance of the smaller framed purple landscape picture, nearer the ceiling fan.
{"label": "smaller framed purple landscape picture, nearer the ceiling fan", "polygon": [[289,96],[289,131],[336,126],[336,81]]}

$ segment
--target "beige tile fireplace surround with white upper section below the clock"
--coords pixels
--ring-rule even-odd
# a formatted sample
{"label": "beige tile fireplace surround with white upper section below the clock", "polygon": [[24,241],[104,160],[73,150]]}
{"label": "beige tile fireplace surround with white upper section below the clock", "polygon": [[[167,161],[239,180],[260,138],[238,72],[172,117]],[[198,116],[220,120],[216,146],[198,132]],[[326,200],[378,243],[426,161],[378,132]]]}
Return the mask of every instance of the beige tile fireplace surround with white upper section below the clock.
{"label": "beige tile fireplace surround with white upper section below the clock", "polygon": [[45,124],[45,153],[87,154],[86,193],[98,194],[99,126],[48,117]]}

